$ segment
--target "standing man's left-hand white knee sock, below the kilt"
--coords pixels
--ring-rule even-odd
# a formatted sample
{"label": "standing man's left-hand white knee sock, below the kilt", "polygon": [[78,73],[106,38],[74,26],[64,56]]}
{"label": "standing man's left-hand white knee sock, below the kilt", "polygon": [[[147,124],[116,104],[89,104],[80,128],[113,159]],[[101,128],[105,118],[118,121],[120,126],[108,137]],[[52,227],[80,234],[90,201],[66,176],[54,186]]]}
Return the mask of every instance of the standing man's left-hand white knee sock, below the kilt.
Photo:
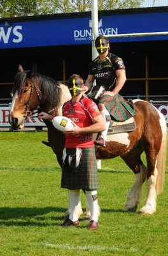
{"label": "standing man's left-hand white knee sock, below the kilt", "polygon": [[78,220],[78,204],[80,202],[80,189],[69,189],[69,219],[72,221]]}

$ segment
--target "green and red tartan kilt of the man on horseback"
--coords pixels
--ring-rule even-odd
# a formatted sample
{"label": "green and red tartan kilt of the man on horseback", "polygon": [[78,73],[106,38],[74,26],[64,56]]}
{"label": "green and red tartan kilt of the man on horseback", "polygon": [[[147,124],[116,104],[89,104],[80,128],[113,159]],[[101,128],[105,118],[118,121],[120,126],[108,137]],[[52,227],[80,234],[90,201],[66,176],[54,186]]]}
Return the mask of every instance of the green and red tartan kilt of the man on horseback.
{"label": "green and red tartan kilt of the man on horseback", "polygon": [[115,96],[104,95],[99,100],[108,109],[111,120],[123,122],[136,115],[134,102],[129,99],[125,100],[117,93]]}

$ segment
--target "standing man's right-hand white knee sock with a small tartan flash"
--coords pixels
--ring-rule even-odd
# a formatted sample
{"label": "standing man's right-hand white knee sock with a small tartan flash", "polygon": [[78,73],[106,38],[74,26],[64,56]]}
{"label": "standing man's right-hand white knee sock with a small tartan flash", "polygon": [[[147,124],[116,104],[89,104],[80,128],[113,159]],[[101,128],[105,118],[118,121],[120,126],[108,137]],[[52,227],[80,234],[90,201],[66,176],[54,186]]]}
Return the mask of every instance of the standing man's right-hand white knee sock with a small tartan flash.
{"label": "standing man's right-hand white knee sock with a small tartan flash", "polygon": [[87,204],[90,209],[90,220],[98,221],[97,210],[98,210],[98,196],[96,190],[86,190]]}

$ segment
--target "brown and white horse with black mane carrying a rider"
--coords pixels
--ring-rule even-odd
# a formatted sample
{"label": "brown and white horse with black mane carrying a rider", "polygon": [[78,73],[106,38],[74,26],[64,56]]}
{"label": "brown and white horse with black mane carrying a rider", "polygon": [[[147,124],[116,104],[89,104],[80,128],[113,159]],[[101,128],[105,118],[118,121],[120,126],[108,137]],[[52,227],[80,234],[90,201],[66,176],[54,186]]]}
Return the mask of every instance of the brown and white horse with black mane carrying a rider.
{"label": "brown and white horse with black mane carrying a rider", "polygon": [[[71,98],[66,85],[39,74],[36,65],[28,71],[19,65],[12,92],[14,97],[9,120],[13,129],[24,127],[25,119],[36,108],[39,112],[45,111],[53,116],[61,115],[62,104]],[[135,173],[136,180],[127,195],[126,211],[136,211],[143,182],[148,180],[146,202],[139,212],[153,214],[157,209],[157,195],[164,188],[167,126],[164,116],[150,103],[144,100],[134,102],[136,129],[108,135],[106,147],[97,148],[96,156],[97,159],[120,156]],[[64,134],[57,131],[48,120],[44,122],[48,127],[48,141],[61,166]],[[147,166],[141,161],[143,152],[146,154]]]}

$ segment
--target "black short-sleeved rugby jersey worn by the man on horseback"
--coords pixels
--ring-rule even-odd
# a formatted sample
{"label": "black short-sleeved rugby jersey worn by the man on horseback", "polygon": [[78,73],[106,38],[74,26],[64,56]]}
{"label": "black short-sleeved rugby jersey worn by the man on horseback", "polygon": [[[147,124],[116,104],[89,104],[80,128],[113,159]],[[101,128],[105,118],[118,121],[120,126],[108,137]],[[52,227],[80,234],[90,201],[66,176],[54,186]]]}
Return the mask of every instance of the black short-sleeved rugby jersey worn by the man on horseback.
{"label": "black short-sleeved rugby jersey worn by the man on horseback", "polygon": [[116,84],[116,70],[124,69],[123,60],[108,52],[103,60],[99,56],[90,62],[89,75],[94,75],[97,86],[105,86],[106,90],[112,91],[112,86]]}

